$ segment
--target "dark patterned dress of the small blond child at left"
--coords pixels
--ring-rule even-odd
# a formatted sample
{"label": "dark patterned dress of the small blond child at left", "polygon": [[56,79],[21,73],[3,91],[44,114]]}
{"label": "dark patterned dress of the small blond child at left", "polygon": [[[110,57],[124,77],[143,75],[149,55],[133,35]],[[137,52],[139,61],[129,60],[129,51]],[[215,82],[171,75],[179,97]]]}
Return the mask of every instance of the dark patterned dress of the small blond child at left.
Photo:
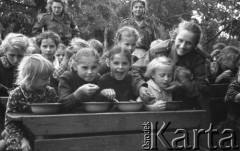
{"label": "dark patterned dress of the small blond child at left", "polygon": [[6,150],[20,150],[23,137],[27,138],[30,142],[33,139],[22,122],[11,121],[8,114],[32,113],[31,108],[26,105],[27,103],[53,102],[57,102],[57,94],[51,87],[47,87],[44,91],[34,93],[28,90],[25,86],[19,86],[11,92],[7,103],[5,117],[5,130],[8,133],[4,138],[7,143]]}

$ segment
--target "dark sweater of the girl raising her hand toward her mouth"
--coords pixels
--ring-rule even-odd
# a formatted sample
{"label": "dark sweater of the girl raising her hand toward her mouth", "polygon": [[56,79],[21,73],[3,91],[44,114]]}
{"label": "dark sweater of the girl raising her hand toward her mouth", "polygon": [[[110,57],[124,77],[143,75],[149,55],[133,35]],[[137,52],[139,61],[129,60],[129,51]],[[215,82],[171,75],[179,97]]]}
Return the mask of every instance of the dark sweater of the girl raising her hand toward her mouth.
{"label": "dark sweater of the girl raising her hand toward her mouth", "polygon": [[64,72],[64,74],[60,77],[58,85],[58,94],[60,98],[59,102],[64,104],[63,110],[74,111],[78,108],[81,102],[92,100],[94,96],[89,97],[82,94],[81,98],[75,98],[73,93],[84,84],[97,84],[99,77],[100,76],[97,76],[92,82],[87,82],[81,79],[75,71]]}

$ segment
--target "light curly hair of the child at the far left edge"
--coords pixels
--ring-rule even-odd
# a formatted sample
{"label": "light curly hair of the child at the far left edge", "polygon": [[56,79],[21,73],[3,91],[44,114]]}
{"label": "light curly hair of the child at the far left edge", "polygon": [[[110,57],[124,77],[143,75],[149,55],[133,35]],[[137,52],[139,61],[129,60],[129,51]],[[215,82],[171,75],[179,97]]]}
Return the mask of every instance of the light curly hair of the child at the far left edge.
{"label": "light curly hair of the child at the far left edge", "polygon": [[29,46],[28,38],[19,33],[9,33],[2,41],[1,51],[6,53],[10,49],[16,49],[21,54],[26,53]]}

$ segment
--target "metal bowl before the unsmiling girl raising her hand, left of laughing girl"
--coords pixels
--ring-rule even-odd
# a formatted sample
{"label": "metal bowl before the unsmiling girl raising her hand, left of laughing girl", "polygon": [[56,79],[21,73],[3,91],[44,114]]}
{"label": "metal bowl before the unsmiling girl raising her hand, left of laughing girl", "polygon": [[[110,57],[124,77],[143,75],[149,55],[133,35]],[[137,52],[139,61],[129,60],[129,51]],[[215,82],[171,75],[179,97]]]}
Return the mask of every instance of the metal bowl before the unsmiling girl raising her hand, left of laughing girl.
{"label": "metal bowl before the unsmiling girl raising her hand, left of laughing girl", "polygon": [[112,103],[111,102],[83,102],[84,110],[87,112],[106,112]]}

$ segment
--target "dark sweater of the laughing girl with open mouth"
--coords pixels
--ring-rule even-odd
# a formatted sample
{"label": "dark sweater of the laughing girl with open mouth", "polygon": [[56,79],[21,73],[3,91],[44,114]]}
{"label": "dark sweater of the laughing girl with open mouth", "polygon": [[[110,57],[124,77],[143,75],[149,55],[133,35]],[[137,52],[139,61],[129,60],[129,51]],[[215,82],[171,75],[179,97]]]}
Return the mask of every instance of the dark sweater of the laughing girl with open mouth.
{"label": "dark sweater of the laughing girl with open mouth", "polygon": [[[116,93],[116,99],[119,101],[136,100],[136,96],[133,93],[132,87],[132,75],[128,74],[123,80],[114,79],[110,73],[102,75],[98,81],[100,91],[103,89],[114,89]],[[98,97],[98,101],[109,101],[104,96]]]}

